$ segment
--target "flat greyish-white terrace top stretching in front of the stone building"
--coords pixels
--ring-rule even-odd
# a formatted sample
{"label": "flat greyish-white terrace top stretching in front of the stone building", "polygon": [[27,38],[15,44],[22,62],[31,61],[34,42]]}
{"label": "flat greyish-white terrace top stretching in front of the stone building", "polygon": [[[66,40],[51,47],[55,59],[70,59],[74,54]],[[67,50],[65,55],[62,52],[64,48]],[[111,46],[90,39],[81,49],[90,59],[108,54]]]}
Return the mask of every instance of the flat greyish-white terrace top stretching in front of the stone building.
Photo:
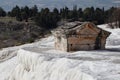
{"label": "flat greyish-white terrace top stretching in front of the stone building", "polygon": [[55,50],[53,48],[37,48],[37,47],[26,47],[21,50],[27,52],[33,52],[42,56],[49,56],[51,58],[68,58],[72,60],[82,61],[106,61],[112,62],[120,59],[120,52],[114,50],[91,50],[91,51],[76,51],[76,52],[63,52]]}

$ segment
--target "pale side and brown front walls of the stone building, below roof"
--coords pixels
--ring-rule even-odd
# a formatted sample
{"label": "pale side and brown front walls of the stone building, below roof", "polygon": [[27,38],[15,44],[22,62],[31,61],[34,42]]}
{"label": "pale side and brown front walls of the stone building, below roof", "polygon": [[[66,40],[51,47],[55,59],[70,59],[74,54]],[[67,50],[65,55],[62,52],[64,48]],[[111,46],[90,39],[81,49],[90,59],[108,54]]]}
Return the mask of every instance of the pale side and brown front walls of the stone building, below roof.
{"label": "pale side and brown front walls of the stone building, below roof", "polygon": [[67,35],[67,37],[56,36],[55,48],[61,51],[105,49],[107,37],[102,36],[98,39],[97,37],[100,36],[98,34],[74,34]]}

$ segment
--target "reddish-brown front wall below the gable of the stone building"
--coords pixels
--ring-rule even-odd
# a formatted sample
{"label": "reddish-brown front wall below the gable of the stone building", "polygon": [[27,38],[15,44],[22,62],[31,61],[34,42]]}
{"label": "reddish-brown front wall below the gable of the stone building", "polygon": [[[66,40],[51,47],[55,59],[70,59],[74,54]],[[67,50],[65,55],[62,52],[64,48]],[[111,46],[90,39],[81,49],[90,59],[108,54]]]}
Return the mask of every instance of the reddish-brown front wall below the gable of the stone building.
{"label": "reddish-brown front wall below the gable of the stone building", "polygon": [[95,46],[96,36],[94,37],[69,37],[68,38],[68,49],[69,51],[77,50],[93,50]]}

